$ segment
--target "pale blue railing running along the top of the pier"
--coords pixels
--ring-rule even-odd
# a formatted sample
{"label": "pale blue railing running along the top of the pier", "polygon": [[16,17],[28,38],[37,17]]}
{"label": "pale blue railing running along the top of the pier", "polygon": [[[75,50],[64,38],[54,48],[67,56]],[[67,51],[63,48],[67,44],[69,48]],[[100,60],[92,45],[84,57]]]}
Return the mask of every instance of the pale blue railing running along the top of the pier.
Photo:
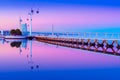
{"label": "pale blue railing running along the top of the pier", "polygon": [[47,37],[59,38],[80,38],[80,39],[120,39],[120,33],[100,33],[100,32],[66,32],[66,33],[43,33],[39,34]]}

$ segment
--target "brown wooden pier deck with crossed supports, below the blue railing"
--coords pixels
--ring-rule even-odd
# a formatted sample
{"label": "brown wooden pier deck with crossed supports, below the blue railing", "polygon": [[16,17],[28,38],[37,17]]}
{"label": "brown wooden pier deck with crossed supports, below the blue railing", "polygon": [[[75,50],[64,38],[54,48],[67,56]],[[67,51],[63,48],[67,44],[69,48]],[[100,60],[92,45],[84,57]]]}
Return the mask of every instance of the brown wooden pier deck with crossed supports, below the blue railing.
{"label": "brown wooden pier deck with crossed supports, below the blue railing", "polygon": [[[37,36],[35,38],[37,41],[49,44],[120,56],[119,40],[115,39],[79,39],[45,36]],[[109,41],[111,41],[111,43]]]}

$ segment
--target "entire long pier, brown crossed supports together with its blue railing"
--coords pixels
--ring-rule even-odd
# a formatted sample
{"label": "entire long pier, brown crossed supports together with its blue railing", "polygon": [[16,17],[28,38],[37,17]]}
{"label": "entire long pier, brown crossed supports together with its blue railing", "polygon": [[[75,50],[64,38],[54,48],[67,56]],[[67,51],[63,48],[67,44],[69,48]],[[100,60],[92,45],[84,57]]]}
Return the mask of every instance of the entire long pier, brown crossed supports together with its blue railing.
{"label": "entire long pier, brown crossed supports together with its blue railing", "polygon": [[37,41],[120,56],[120,34],[80,33],[36,36]]}

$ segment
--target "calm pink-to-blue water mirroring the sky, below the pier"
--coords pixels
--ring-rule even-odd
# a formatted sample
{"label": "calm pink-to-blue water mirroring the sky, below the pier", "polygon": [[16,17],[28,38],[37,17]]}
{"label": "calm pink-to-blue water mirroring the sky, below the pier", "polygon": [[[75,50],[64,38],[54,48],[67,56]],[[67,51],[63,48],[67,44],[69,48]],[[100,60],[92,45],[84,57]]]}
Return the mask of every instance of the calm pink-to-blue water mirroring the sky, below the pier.
{"label": "calm pink-to-blue water mirroring the sky, below the pier", "polygon": [[37,41],[0,40],[0,79],[117,80],[120,56]]}

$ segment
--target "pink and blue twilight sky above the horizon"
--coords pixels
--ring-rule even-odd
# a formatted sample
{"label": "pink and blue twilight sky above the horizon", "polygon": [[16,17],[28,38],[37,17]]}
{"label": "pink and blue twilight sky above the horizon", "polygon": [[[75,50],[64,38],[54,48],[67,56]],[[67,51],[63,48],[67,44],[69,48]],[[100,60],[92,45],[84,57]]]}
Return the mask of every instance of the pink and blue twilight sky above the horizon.
{"label": "pink and blue twilight sky above the horizon", "polygon": [[[120,32],[119,0],[0,0],[0,29],[19,28],[19,18],[33,31],[50,32]],[[29,30],[29,26],[28,26]]]}

